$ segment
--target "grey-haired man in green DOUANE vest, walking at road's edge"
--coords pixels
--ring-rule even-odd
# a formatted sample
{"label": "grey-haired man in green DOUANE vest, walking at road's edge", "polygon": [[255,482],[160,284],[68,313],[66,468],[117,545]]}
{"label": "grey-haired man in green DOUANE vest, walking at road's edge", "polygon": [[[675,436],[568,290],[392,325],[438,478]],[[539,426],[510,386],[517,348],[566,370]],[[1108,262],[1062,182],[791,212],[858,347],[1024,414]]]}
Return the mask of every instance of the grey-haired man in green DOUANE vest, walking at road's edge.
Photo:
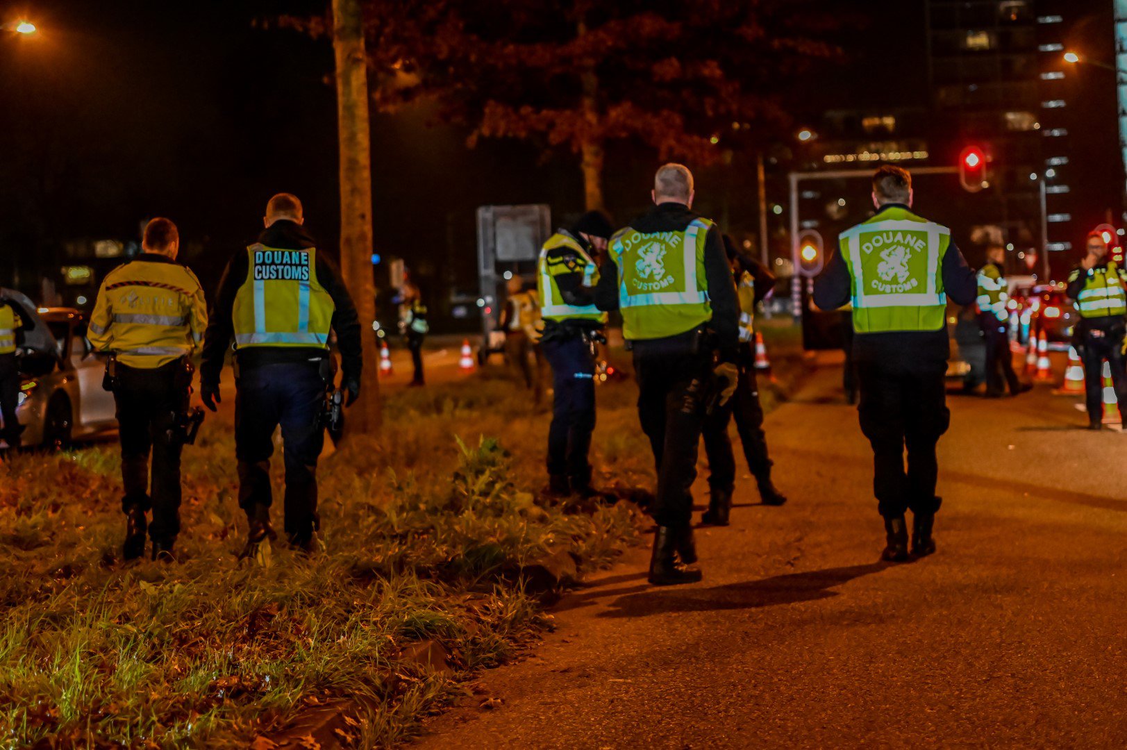
{"label": "grey-haired man in green DOUANE vest, walking at road's edge", "polygon": [[724,406],[738,379],[739,311],[720,230],[693,213],[693,176],[668,164],[654,208],[616,232],[595,303],[621,310],[633,347],[638,416],[657,464],[657,533],[649,581],[700,581],[692,532],[696,451],[710,402]]}

